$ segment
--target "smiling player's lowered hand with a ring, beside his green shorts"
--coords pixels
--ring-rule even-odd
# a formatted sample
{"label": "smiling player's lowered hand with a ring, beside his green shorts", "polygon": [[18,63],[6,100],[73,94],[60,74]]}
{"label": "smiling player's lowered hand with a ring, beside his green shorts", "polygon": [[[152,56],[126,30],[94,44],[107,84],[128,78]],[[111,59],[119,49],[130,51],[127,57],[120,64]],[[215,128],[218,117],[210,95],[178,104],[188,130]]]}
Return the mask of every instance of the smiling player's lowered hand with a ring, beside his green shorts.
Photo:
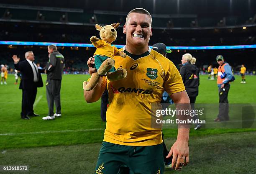
{"label": "smiling player's lowered hand with a ring, beside his green shorts", "polygon": [[188,141],[177,139],[166,158],[170,158],[172,155],[172,168],[180,170],[183,165],[186,166],[189,163]]}

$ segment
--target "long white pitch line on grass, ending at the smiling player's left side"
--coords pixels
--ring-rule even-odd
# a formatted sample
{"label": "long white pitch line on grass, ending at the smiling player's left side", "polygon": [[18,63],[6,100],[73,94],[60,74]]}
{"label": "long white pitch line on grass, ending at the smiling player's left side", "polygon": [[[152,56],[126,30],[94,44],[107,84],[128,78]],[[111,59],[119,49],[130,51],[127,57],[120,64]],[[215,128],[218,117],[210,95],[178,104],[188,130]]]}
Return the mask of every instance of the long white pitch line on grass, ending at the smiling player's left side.
{"label": "long white pitch line on grass, ending at the smiling player's left side", "polygon": [[66,133],[66,132],[89,132],[89,131],[95,131],[95,130],[104,130],[104,129],[97,128],[97,129],[79,129],[79,130],[48,130],[48,131],[40,131],[40,132],[1,133],[0,136],[18,136],[18,135],[26,135],[26,134]]}

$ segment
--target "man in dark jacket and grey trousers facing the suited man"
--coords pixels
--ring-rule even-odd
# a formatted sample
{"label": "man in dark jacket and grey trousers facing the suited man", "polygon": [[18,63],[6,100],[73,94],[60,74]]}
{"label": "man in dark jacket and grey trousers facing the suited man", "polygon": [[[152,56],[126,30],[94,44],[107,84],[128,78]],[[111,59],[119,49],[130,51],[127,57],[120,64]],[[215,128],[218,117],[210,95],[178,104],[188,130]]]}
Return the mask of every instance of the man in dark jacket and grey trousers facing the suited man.
{"label": "man in dark jacket and grey trousers facing the suited man", "polygon": [[[60,89],[63,74],[64,56],[57,51],[55,45],[48,46],[49,61],[46,65],[46,98],[48,102],[49,113],[43,120],[53,120],[61,116]],[[54,114],[54,103],[56,113]]]}

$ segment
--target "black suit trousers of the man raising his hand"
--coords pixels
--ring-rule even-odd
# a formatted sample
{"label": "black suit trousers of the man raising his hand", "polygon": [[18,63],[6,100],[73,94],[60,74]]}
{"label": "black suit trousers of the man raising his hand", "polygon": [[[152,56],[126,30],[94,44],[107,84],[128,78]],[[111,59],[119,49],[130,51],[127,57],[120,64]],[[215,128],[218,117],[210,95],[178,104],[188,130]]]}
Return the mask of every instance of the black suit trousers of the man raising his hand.
{"label": "black suit trousers of the man raising his hand", "polygon": [[34,86],[32,89],[22,90],[22,105],[21,105],[21,117],[26,115],[32,115],[34,113],[33,104],[36,100],[37,87]]}

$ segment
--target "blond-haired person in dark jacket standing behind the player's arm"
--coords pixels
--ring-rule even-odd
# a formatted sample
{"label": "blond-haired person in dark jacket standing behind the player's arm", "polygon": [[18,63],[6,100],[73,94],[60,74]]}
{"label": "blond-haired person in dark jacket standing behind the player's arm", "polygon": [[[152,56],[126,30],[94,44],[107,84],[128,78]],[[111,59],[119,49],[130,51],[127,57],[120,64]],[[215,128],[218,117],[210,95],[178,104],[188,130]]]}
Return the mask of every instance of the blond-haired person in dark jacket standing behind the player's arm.
{"label": "blond-haired person in dark jacket standing behind the player's arm", "polygon": [[[187,53],[182,56],[182,67],[179,70],[179,73],[182,76],[184,86],[189,96],[191,109],[195,109],[195,100],[198,95],[198,86],[199,86],[199,70],[193,64],[191,64],[192,55]],[[193,120],[197,120],[198,117],[195,115]],[[201,125],[196,124],[195,130],[200,129]]]}

